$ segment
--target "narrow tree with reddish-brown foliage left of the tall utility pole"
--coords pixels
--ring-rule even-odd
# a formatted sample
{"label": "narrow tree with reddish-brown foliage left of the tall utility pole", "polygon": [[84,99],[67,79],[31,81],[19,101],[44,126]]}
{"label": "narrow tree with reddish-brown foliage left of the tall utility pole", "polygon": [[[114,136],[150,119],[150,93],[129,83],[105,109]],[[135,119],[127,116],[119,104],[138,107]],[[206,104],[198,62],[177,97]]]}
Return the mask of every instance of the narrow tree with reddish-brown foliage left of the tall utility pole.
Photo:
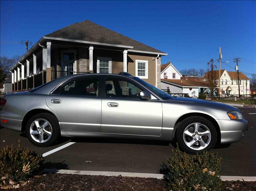
{"label": "narrow tree with reddish-brown foliage left of the tall utility pole", "polygon": [[[206,81],[208,83],[208,88],[210,89],[210,96],[211,99],[214,99],[214,90],[217,88],[218,85],[218,77],[217,77],[217,66],[213,64],[213,59],[207,63],[208,68],[206,70]],[[215,71],[214,71],[215,70]]]}

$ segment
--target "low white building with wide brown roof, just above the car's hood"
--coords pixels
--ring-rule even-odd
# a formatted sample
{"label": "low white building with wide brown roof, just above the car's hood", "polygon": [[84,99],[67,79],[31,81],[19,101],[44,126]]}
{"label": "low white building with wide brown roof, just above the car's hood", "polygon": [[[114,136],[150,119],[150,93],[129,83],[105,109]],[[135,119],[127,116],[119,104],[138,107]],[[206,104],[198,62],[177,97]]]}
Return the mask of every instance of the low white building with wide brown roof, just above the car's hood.
{"label": "low white building with wide brown roof, just above the car's hood", "polygon": [[197,98],[199,92],[203,93],[207,89],[206,82],[195,80],[172,80],[162,79],[161,88],[170,91],[172,94],[188,94],[190,97]]}

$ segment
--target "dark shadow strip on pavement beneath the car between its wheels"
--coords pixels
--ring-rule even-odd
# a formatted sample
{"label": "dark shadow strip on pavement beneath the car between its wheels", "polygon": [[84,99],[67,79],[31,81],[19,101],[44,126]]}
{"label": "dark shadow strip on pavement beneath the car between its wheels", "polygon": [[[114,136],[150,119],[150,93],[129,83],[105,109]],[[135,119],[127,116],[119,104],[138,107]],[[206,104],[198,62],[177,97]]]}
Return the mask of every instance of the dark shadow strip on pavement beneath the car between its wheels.
{"label": "dark shadow strip on pavement beneath the car between its wheels", "polygon": [[72,142],[78,143],[124,143],[140,145],[164,145],[168,146],[169,141],[145,140],[145,139],[118,139],[118,138],[72,138]]}

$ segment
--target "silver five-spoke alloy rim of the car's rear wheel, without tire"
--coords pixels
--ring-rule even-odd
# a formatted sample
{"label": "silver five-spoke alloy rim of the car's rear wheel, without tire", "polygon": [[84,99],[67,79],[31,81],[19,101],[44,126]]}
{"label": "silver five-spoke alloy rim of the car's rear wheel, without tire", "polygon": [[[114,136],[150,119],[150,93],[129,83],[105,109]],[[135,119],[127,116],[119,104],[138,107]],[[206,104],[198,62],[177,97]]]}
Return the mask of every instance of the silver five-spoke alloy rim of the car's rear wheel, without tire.
{"label": "silver five-spoke alloy rim of the car's rear wheel, without tire", "polygon": [[52,136],[52,125],[46,119],[36,119],[30,125],[30,135],[34,141],[45,143]]}

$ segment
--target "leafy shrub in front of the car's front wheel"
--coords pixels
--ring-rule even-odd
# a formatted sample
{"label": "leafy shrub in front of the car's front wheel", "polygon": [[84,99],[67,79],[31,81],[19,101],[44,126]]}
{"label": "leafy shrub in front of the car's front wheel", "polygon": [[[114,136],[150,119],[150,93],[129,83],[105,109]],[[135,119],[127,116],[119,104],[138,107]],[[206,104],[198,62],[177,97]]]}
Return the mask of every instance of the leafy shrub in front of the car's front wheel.
{"label": "leafy shrub in front of the car's front wheel", "polygon": [[188,155],[177,147],[174,157],[168,160],[169,175],[166,177],[172,191],[220,191],[220,160],[216,153],[207,151]]}

